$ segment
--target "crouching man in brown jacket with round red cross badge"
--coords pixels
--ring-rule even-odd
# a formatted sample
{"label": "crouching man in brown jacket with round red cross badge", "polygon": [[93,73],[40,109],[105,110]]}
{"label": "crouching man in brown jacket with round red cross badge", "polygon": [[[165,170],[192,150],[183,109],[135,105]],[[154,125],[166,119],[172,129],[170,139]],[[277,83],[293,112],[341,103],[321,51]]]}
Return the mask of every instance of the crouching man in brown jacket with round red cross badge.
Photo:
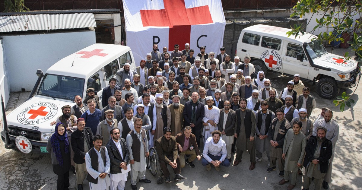
{"label": "crouching man in brown jacket with round red cross badge", "polygon": [[[185,138],[189,139],[188,147],[184,147]],[[185,162],[191,167],[195,168],[195,165],[192,163],[196,158],[201,160],[199,147],[196,143],[196,136],[191,133],[191,127],[186,126],[184,132],[180,132],[176,135],[176,144],[178,148],[178,156],[180,156],[181,168],[185,167]],[[193,149],[191,149],[193,147]],[[185,160],[185,155],[190,155],[188,159]]]}

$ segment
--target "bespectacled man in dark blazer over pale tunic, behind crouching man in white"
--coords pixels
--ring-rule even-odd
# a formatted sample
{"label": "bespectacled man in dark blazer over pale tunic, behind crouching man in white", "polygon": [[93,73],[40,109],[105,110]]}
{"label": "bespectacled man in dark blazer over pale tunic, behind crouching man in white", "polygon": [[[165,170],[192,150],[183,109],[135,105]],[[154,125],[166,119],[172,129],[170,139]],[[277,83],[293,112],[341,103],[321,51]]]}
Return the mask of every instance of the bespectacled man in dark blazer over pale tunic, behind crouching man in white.
{"label": "bespectacled man in dark blazer over pale tunic, behind crouching man in white", "polygon": [[[225,106],[225,105],[228,105],[228,106]],[[236,124],[236,122],[235,122],[236,115],[235,115],[235,111],[230,109],[230,102],[228,100],[224,101],[223,106],[224,106],[224,109],[220,109],[220,119],[219,119],[219,123],[218,123],[218,130],[221,131],[221,134],[222,134],[221,137],[223,139],[229,139],[230,136],[234,135],[234,129],[235,129],[235,124]],[[224,121],[224,114],[227,114],[226,121]],[[233,140],[231,140],[230,142],[228,142],[228,144],[226,144],[226,151],[227,151],[226,159],[228,159],[229,162],[231,162],[231,147],[232,147],[231,143],[233,143]]]}

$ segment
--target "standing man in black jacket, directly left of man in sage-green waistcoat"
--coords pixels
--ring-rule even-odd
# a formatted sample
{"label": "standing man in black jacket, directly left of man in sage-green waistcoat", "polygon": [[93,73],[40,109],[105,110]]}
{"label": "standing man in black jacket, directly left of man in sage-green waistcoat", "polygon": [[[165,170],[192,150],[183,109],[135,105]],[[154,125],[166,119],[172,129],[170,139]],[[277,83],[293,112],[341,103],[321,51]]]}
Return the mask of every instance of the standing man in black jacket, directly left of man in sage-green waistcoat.
{"label": "standing man in black jacket, directly left of man in sage-green waistcoat", "polygon": [[273,170],[276,170],[278,160],[279,177],[283,177],[285,163],[285,160],[282,158],[283,144],[285,134],[290,128],[290,123],[284,118],[283,109],[278,108],[275,112],[277,118],[274,118],[273,121],[271,121],[268,131],[268,138],[270,141],[270,164],[266,172],[270,173]]}

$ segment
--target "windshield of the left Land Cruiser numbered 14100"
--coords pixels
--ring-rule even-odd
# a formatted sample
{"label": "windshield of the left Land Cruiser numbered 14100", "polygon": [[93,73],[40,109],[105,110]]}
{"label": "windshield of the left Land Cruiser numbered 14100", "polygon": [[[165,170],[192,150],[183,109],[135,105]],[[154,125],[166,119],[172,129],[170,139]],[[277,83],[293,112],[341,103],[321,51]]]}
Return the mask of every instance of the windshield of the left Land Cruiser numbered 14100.
{"label": "windshield of the left Land Cruiser numbered 14100", "polygon": [[39,95],[74,100],[76,95],[83,98],[84,79],[46,74],[38,90]]}

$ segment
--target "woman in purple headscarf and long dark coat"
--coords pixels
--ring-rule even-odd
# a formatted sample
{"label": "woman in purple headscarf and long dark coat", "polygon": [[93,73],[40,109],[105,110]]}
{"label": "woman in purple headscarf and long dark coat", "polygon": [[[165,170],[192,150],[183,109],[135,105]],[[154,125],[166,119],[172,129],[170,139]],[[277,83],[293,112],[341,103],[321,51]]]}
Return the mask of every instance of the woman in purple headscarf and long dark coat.
{"label": "woman in purple headscarf and long dark coat", "polygon": [[66,126],[63,123],[56,124],[55,133],[48,140],[46,149],[51,155],[53,172],[58,175],[56,189],[68,189],[69,169],[71,167],[70,143],[68,140]]}

